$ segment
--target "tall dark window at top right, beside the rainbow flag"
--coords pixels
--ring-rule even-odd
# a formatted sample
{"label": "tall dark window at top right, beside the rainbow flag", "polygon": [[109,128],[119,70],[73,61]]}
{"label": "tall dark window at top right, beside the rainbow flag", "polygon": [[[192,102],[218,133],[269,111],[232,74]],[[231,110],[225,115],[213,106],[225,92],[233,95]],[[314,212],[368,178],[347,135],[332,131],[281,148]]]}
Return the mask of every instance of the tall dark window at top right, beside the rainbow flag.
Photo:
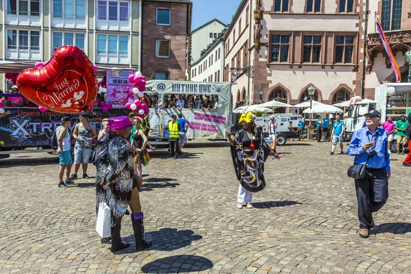
{"label": "tall dark window at top right, beside the rainbow flag", "polygon": [[382,1],[382,29],[386,31],[401,29],[402,0]]}

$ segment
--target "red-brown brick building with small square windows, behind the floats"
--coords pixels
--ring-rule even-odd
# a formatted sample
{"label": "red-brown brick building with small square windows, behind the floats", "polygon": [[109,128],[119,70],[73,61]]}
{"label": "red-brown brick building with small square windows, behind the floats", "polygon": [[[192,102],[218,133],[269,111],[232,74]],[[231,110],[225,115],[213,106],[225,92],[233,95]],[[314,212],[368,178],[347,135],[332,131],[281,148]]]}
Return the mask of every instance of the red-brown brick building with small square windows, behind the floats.
{"label": "red-brown brick building with small square windows, behind the floats", "polygon": [[147,79],[186,79],[191,15],[190,0],[142,1],[140,71]]}

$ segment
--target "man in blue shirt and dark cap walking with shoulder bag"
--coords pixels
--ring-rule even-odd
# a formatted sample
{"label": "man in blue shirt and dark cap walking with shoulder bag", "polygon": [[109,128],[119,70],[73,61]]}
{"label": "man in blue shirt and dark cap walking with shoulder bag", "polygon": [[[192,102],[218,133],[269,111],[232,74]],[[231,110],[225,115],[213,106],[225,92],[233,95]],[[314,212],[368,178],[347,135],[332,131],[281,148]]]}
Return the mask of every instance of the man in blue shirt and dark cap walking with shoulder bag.
{"label": "man in blue shirt and dark cap walking with shoulder bag", "polygon": [[367,113],[366,127],[354,132],[347,149],[349,155],[356,156],[355,164],[366,163],[365,177],[356,179],[362,238],[369,237],[369,229],[374,225],[373,212],[380,210],[388,199],[388,179],[391,175],[388,133],[377,127],[380,120],[379,111],[371,110]]}

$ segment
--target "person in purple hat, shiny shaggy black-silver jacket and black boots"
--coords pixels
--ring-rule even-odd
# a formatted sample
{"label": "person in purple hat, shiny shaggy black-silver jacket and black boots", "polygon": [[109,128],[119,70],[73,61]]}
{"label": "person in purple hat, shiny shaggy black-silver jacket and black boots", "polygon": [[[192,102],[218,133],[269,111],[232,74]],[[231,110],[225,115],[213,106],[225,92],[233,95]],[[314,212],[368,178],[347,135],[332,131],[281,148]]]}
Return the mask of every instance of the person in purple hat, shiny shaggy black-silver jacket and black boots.
{"label": "person in purple hat, shiny shaggy black-silver jacket and black boots", "polygon": [[97,205],[105,201],[112,213],[112,247],[117,251],[129,247],[121,242],[121,219],[130,206],[136,250],[151,246],[144,240],[140,197],[141,178],[134,175],[132,147],[127,142],[132,123],[128,116],[109,119],[110,132],[105,134],[96,145],[95,165],[97,166]]}

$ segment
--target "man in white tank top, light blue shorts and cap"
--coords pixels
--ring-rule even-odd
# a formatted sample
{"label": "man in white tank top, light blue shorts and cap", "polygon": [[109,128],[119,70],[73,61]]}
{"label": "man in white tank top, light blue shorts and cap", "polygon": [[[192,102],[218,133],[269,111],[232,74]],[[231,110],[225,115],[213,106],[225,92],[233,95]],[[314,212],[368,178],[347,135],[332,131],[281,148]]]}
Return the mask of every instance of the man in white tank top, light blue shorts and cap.
{"label": "man in white tank top, light blue shorts and cap", "polygon": [[[62,125],[55,129],[55,134],[57,134],[57,142],[58,142],[58,163],[60,164],[60,169],[58,171],[58,187],[59,188],[68,188],[67,184],[71,183],[70,179],[70,171],[71,166],[73,165],[73,159],[71,158],[71,142],[70,142],[70,134],[69,129],[71,125],[71,120],[69,117],[64,116],[62,118]],[[66,181],[63,181],[63,174],[64,170],[66,170]]]}

